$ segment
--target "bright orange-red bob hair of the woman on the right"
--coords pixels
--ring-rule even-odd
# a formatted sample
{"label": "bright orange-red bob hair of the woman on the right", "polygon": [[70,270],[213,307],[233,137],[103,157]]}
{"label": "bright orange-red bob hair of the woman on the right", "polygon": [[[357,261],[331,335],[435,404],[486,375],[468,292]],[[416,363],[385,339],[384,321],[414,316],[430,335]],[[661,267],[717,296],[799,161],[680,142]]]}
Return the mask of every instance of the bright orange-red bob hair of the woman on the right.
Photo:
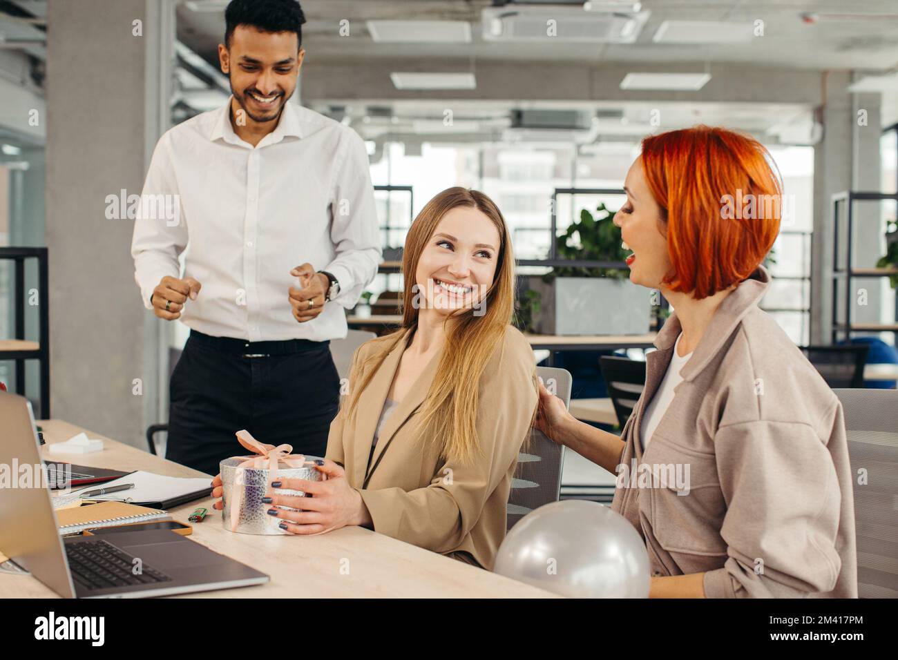
{"label": "bright orange-red bob hair of the woman on the right", "polygon": [[[771,166],[772,165],[772,166]],[[701,299],[749,277],[779,233],[782,186],[753,137],[696,126],[648,136],[642,170],[662,209],[672,291]]]}

